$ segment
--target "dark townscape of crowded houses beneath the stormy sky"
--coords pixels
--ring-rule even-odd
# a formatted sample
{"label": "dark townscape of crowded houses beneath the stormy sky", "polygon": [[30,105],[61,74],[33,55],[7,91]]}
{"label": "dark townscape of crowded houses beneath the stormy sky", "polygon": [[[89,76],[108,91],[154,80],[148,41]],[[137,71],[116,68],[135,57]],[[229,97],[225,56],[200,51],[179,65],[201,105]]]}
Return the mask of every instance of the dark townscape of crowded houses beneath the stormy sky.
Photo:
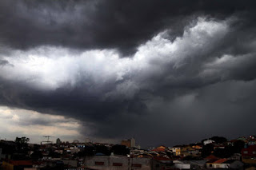
{"label": "dark townscape of crowded houses beneath the stormy sky", "polygon": [[[25,160],[15,160],[14,155],[17,153],[14,152],[11,155],[10,152],[6,152],[6,149],[2,153],[1,148],[0,157],[2,157],[2,168],[10,170],[252,169],[256,166],[254,139],[254,136],[218,142],[208,139],[201,143],[175,145],[173,147],[161,145],[150,149],[134,147],[134,138],[122,140],[124,145],[58,141],[56,144],[26,144],[26,149],[22,150],[26,155]],[[10,150],[17,148],[17,144],[14,142],[2,142],[10,146]],[[237,148],[238,144],[242,148],[235,150],[234,153],[232,151],[232,155],[223,157],[219,154],[219,152],[228,151],[228,148]],[[35,153],[42,155],[34,158],[37,155]]]}

